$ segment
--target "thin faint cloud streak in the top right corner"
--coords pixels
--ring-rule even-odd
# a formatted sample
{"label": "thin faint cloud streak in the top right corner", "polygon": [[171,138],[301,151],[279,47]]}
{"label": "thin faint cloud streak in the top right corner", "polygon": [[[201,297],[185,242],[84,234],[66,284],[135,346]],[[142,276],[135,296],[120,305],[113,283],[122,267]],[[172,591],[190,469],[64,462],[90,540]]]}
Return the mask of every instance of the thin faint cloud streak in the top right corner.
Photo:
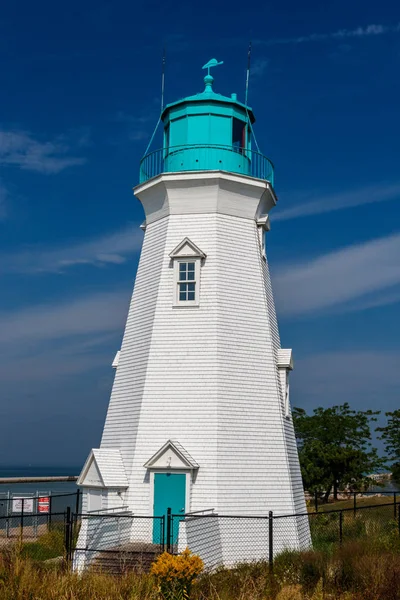
{"label": "thin faint cloud streak in the top right corner", "polygon": [[324,42],[327,40],[346,40],[350,38],[365,38],[385,35],[388,33],[399,33],[400,23],[397,25],[371,25],[356,27],[355,29],[339,29],[330,33],[310,33],[298,37],[272,38],[269,40],[257,40],[264,46],[275,46],[279,44],[304,44],[309,42]]}

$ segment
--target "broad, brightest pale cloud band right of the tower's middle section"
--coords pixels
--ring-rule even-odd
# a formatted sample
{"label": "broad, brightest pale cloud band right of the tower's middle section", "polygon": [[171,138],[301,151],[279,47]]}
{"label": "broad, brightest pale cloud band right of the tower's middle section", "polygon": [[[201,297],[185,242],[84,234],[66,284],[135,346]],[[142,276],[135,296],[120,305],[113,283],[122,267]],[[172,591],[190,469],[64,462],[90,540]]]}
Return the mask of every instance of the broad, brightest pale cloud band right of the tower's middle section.
{"label": "broad, brightest pale cloud band right of the tower's middle section", "polygon": [[[354,310],[374,301],[373,294],[400,285],[400,234],[348,246],[309,262],[281,266],[274,284],[277,306],[283,315]],[[397,290],[395,291],[397,294]],[[375,300],[376,301],[376,300]],[[380,305],[384,296],[380,296]],[[351,304],[353,303],[353,304]],[[368,308],[368,306],[364,306]]]}

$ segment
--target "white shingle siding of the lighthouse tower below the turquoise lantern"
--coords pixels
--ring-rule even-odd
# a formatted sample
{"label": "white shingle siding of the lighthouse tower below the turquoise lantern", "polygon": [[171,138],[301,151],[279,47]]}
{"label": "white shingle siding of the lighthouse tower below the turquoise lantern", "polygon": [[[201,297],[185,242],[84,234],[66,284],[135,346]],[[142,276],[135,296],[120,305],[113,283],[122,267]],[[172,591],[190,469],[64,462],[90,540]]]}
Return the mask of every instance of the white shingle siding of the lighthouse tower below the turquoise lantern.
{"label": "white shingle siding of the lighthouse tower below the turquoise lantern", "polygon": [[[204,172],[163,175],[136,194],[146,232],[101,441],[102,450],[121,452],[126,503],[152,514],[144,465],[174,440],[199,466],[186,511],[305,512],[285,415],[280,362],[288,357],[257,226],[273,191],[261,180]],[[198,306],[174,306],[170,254],[185,238],[206,256]],[[308,545],[308,527],[293,520],[287,541]]]}

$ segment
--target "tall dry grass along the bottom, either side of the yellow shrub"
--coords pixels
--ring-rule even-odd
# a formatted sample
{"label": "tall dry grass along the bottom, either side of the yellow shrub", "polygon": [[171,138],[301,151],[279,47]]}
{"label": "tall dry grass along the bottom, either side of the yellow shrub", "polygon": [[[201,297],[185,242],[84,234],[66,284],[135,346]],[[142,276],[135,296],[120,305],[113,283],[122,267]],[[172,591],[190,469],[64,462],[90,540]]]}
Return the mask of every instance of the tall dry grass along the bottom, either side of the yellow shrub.
{"label": "tall dry grass along the bottom, either side of the yellow shrub", "polygon": [[[345,543],[331,552],[287,551],[274,563],[238,565],[202,575],[191,600],[400,600],[400,545]],[[49,566],[8,550],[0,562],[0,600],[160,600],[151,575]]]}

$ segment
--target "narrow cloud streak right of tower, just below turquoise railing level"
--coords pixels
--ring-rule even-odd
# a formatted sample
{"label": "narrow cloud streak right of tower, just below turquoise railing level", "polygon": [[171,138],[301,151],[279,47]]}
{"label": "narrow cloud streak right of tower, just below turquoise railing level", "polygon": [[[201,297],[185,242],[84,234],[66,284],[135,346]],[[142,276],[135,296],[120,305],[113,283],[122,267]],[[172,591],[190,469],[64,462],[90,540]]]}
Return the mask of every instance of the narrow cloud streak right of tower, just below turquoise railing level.
{"label": "narrow cloud streak right of tower, just below turquoise railing level", "polygon": [[273,213],[274,221],[287,221],[310,215],[320,215],[336,210],[353,208],[363,204],[385,202],[400,197],[400,183],[380,184],[362,187],[355,190],[338,192],[334,194],[312,194],[307,202],[298,203],[283,210]]}

